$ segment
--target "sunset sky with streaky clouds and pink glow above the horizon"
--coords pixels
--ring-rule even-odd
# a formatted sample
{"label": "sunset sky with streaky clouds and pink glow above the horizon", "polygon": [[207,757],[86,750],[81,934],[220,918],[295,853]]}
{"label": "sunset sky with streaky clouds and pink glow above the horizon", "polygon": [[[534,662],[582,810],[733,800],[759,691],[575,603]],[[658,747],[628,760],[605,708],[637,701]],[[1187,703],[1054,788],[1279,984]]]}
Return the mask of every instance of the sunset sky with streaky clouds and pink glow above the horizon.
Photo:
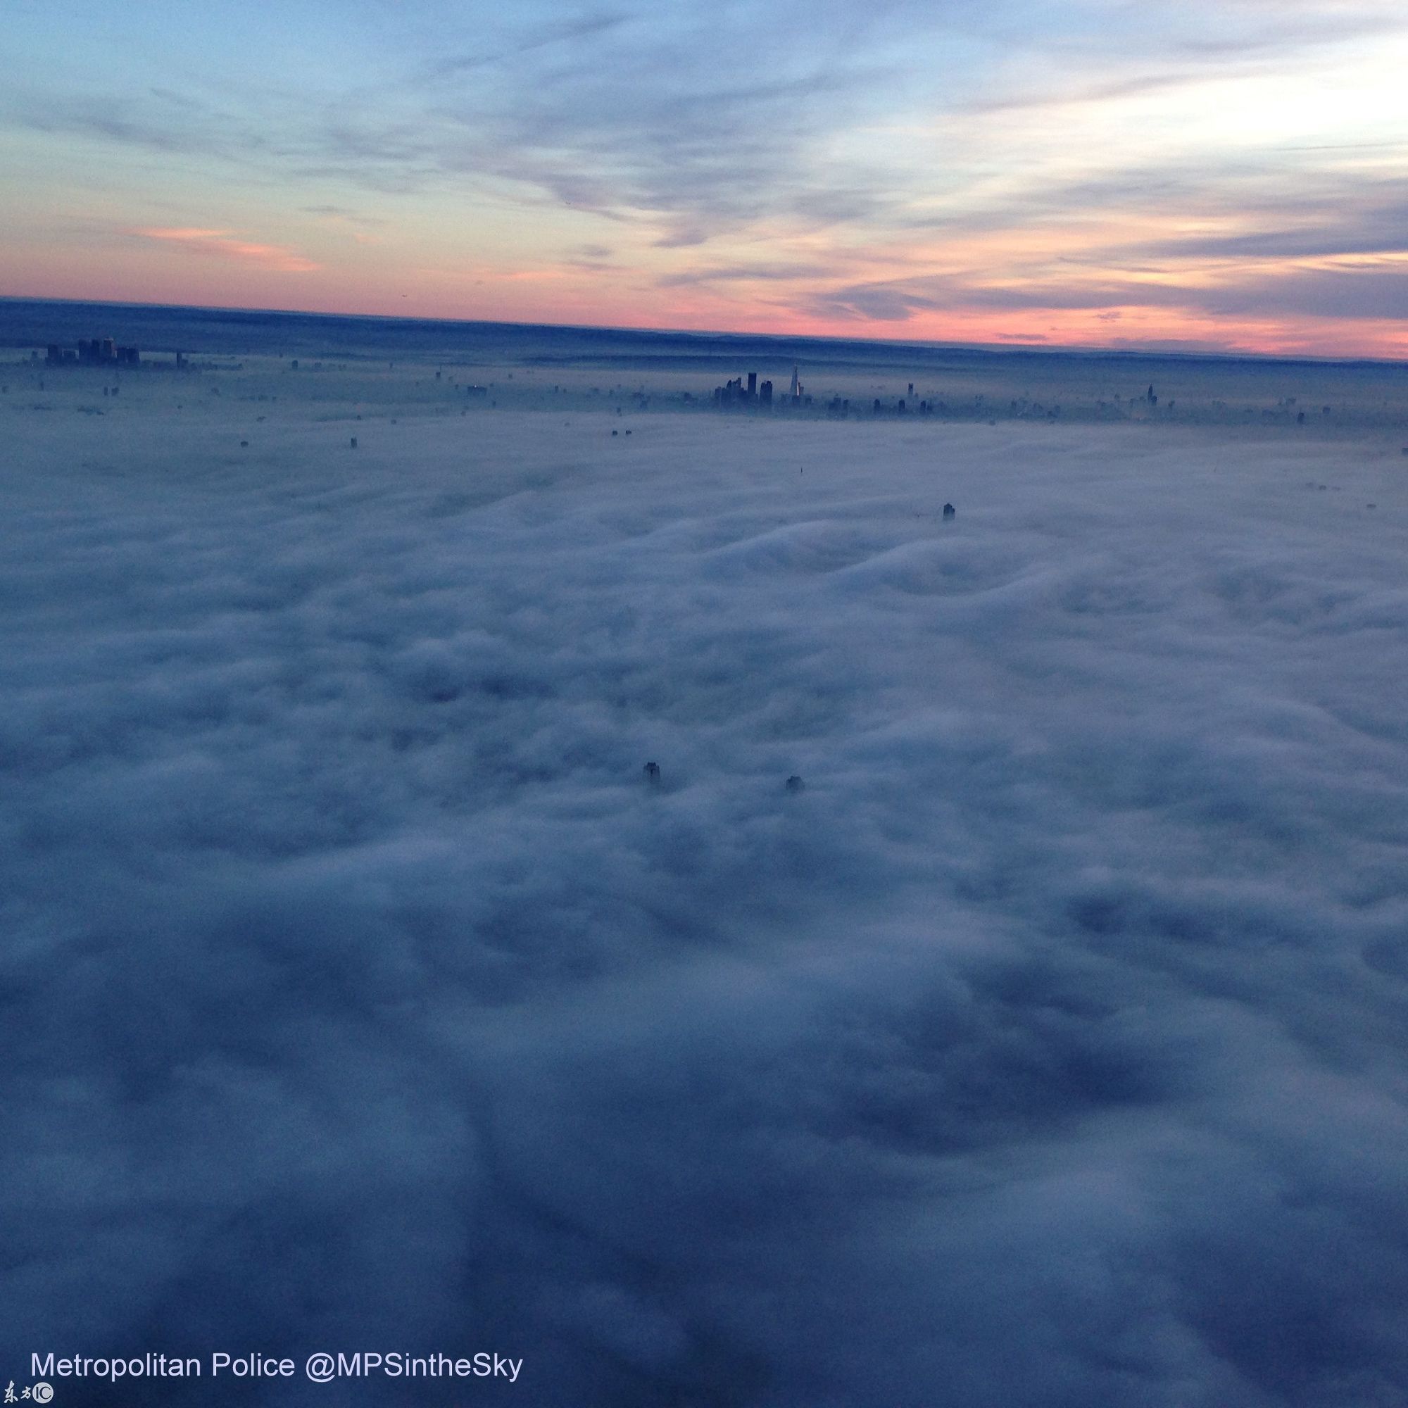
{"label": "sunset sky with streaky clouds and pink glow above the horizon", "polygon": [[30,3],[0,294],[1408,355],[1401,0]]}

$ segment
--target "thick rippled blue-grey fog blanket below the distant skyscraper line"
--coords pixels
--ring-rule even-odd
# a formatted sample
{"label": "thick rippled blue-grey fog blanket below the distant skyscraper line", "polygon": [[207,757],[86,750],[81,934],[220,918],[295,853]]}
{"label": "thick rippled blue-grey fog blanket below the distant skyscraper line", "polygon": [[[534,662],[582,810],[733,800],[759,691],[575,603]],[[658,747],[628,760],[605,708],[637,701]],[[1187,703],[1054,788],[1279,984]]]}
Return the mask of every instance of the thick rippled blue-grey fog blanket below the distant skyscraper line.
{"label": "thick rippled blue-grey fog blanket below the distant skyscraper line", "polygon": [[7,432],[7,1373],[1402,1395],[1397,462],[356,428]]}

